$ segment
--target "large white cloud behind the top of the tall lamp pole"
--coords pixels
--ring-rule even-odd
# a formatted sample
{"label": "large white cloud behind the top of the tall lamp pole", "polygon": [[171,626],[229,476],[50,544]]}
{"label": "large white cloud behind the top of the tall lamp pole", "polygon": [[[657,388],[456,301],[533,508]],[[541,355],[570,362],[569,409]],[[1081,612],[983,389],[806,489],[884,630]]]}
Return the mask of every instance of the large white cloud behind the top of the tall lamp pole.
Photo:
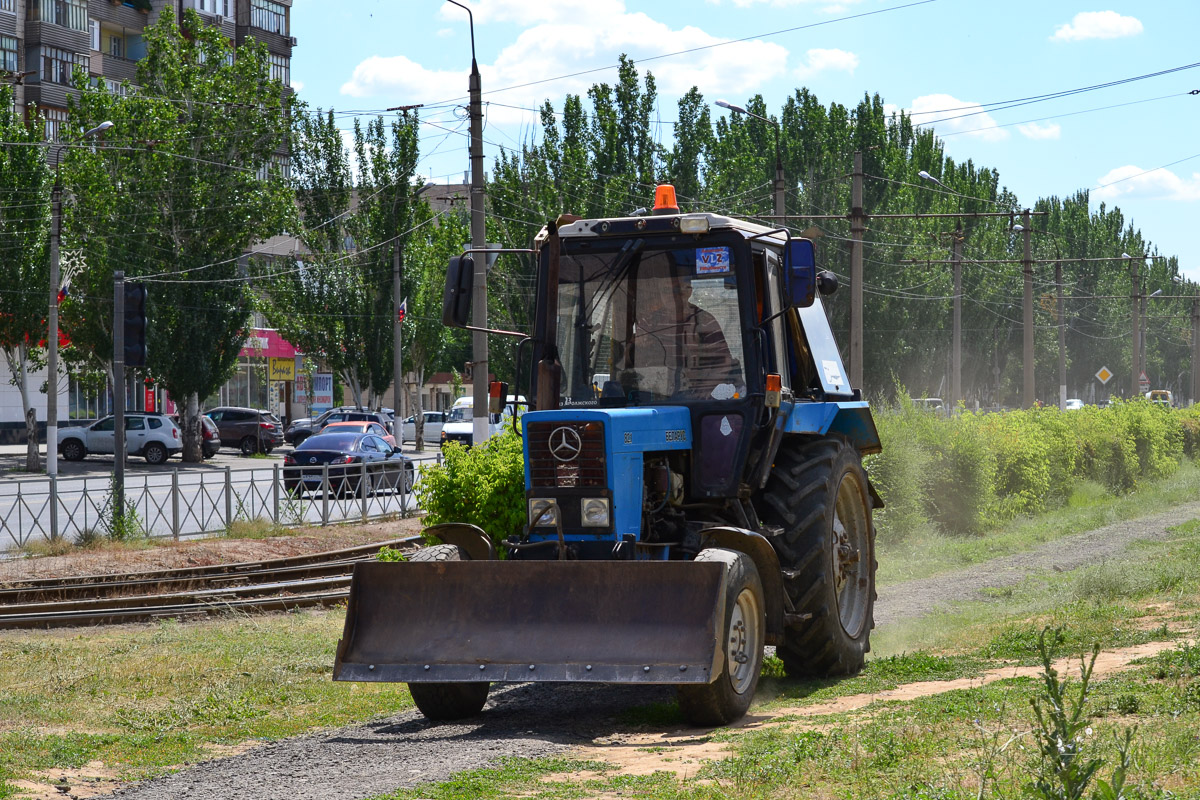
{"label": "large white cloud behind the top of the tall lamp pole", "polygon": [[[452,8],[449,4],[446,7]],[[614,65],[622,53],[636,62],[640,58],[689,52],[638,65],[638,72],[652,71],[659,91],[667,96],[682,95],[692,86],[712,97],[748,96],[784,74],[787,65],[787,49],[772,42],[700,49],[727,40],[691,25],[672,28],[643,12],[626,12],[620,0],[478,0],[472,7],[476,25],[482,19],[527,25],[492,64],[480,65],[485,92]],[[536,108],[547,97],[557,102],[568,92],[582,94],[594,83],[614,80],[616,70],[607,70],[493,95],[497,104],[488,109],[488,120],[528,120],[527,112],[502,108],[499,103]],[[467,71],[433,70],[404,55],[373,55],[354,68],[341,91],[350,97],[378,97],[389,104],[436,102],[466,95]]]}

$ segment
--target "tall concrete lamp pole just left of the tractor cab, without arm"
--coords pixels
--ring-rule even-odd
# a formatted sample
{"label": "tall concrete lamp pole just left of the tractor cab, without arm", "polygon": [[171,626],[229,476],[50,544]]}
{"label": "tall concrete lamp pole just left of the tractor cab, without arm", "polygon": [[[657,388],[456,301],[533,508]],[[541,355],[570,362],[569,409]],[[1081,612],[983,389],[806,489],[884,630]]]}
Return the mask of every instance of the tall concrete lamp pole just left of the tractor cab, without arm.
{"label": "tall concrete lamp pole just left of the tractor cab, without arm", "polygon": [[[487,221],[484,217],[484,104],[480,98],[479,65],[470,59],[470,246],[487,247]],[[487,327],[487,253],[475,253],[475,278],[472,296],[472,324]],[[475,331],[472,337],[472,402],[474,404],[472,441],[488,439],[487,426],[487,333]]]}

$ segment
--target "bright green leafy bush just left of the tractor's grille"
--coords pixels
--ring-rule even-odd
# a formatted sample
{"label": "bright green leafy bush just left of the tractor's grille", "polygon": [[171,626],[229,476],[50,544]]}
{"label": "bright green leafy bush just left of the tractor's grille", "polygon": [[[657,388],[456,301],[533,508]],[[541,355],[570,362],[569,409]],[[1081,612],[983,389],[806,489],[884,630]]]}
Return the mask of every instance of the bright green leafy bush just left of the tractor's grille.
{"label": "bright green leafy bush just left of the tractor's grille", "polygon": [[426,525],[467,522],[500,543],[526,523],[524,458],[521,437],[511,428],[486,445],[467,449],[457,443],[442,449],[444,463],[421,467],[416,499],[426,510]]}

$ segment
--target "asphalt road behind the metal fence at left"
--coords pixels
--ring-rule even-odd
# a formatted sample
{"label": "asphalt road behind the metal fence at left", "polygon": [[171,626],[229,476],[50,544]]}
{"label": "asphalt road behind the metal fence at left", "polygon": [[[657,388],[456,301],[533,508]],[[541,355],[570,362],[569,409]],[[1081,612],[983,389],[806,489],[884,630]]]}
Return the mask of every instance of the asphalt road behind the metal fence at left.
{"label": "asphalt road behind the metal fence at left", "polygon": [[[49,481],[17,471],[22,455],[5,447],[0,464],[0,551],[30,540],[49,539]],[[138,523],[151,536],[192,536],[215,533],[229,519],[271,518],[283,524],[340,522],[377,517],[415,509],[410,494],[380,488],[366,498],[306,493],[289,497],[277,479],[282,476],[283,455],[290,447],[266,457],[247,458],[223,450],[202,464],[187,464],[174,457],[151,467],[144,459],[126,462],[125,498]],[[404,455],[421,463],[437,458],[437,450]],[[59,461],[58,534],[74,540],[85,531],[104,531],[109,511],[114,459],[89,456],[82,462]],[[418,479],[420,480],[420,479]]]}

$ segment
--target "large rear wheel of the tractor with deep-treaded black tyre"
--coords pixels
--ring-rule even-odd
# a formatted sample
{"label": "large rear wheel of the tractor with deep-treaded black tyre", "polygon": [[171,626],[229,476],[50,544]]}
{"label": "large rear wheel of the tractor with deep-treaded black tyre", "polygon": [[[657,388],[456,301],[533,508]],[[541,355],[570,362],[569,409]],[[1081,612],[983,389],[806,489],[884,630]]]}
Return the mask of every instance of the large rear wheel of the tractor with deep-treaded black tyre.
{"label": "large rear wheel of the tractor with deep-treaded black tyre", "polygon": [[844,439],[785,441],[760,497],[793,609],[776,648],[791,676],[851,675],[875,627],[875,528],[863,462]]}

